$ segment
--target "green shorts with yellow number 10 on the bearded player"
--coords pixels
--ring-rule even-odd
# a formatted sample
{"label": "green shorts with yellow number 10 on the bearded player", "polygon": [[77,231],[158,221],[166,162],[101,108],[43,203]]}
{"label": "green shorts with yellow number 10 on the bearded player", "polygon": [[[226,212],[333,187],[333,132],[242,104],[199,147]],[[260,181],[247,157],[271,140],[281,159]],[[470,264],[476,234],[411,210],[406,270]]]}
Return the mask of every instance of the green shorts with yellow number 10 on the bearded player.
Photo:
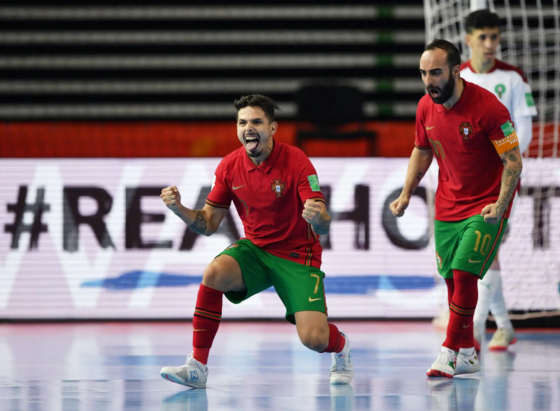
{"label": "green shorts with yellow number 10 on the bearded player", "polygon": [[437,270],[453,278],[453,270],[473,273],[482,279],[492,265],[507,227],[507,218],[496,225],[481,215],[460,221],[435,222]]}

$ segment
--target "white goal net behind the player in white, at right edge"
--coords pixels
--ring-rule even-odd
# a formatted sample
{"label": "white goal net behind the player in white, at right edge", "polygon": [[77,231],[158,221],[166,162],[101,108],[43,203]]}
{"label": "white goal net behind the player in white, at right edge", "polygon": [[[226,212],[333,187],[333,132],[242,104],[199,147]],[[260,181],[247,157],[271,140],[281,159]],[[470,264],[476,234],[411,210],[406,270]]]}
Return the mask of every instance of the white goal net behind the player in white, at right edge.
{"label": "white goal net behind the player in white, at right edge", "polygon": [[[452,41],[463,60],[465,17],[489,8],[502,20],[498,58],[520,67],[538,116],[524,156],[522,191],[502,245],[503,292],[512,318],[558,315],[560,309],[560,19],[558,0],[424,0],[426,42]],[[430,176],[430,174],[428,174]],[[431,173],[431,178],[434,174]],[[432,185],[433,182],[428,184]],[[538,311],[538,312],[535,312]]]}

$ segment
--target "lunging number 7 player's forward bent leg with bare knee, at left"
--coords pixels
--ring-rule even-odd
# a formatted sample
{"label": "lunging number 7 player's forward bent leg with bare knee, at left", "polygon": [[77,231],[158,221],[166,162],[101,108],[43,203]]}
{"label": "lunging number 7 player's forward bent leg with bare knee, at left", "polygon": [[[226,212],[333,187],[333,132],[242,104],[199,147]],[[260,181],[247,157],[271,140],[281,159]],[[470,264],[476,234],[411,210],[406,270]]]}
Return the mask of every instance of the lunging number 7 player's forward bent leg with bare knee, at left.
{"label": "lunging number 7 player's forward bent leg with bare knee, at left", "polygon": [[163,378],[188,387],[206,387],[206,363],[222,318],[223,293],[244,288],[245,282],[235,258],[220,255],[206,267],[193,315],[193,352],[189,353],[183,366],[162,368],[160,375]]}

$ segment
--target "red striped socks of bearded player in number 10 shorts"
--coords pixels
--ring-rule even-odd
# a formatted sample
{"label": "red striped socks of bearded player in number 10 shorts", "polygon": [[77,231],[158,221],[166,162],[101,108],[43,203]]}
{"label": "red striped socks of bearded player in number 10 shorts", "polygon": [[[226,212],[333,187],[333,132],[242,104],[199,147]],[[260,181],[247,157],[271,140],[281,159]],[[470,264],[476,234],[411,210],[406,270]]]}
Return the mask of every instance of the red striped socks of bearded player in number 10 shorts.
{"label": "red striped socks of bearded player in number 10 shorts", "polygon": [[469,347],[474,346],[472,340],[473,315],[478,300],[478,277],[466,271],[453,270],[453,280],[455,291],[449,307],[447,338],[442,345],[454,351],[459,351],[463,347],[463,340],[465,340],[465,344],[470,344],[472,341]]}

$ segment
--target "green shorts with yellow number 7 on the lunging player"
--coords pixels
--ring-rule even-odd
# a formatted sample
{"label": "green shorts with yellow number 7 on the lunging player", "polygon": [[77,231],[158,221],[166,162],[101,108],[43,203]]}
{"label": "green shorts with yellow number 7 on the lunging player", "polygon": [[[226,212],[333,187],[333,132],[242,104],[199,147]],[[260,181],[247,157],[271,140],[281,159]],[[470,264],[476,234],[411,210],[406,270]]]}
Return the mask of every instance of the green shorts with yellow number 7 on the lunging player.
{"label": "green shorts with yellow number 7 on the lunging player", "polygon": [[286,320],[292,324],[296,324],[293,314],[297,311],[320,311],[326,314],[325,273],[318,268],[273,256],[246,238],[231,244],[219,255],[222,254],[235,258],[247,286],[243,291],[225,293],[232,303],[239,304],[274,286],[286,307]]}

